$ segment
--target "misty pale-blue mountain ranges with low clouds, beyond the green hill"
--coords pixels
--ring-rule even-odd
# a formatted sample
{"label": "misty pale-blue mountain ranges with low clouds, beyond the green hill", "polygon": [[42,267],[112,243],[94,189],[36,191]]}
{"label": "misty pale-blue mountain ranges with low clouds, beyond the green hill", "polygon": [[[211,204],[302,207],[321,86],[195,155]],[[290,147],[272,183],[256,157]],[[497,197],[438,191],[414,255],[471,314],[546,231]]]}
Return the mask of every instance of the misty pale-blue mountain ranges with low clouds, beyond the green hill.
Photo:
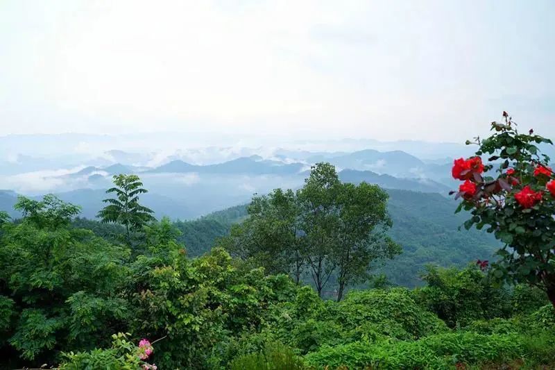
{"label": "misty pale-blue mountain ranges with low clouds, beyond the green hill", "polygon": [[[147,205],[160,216],[188,219],[246,203],[254,193],[299,187],[310,166],[323,161],[335,165],[345,181],[447,194],[452,158],[469,151],[459,144],[350,139],[267,146],[190,141],[167,134],[0,137],[0,189],[59,194],[94,217],[112,176],[135,173],[150,190]],[[3,194],[8,203],[13,195]]]}

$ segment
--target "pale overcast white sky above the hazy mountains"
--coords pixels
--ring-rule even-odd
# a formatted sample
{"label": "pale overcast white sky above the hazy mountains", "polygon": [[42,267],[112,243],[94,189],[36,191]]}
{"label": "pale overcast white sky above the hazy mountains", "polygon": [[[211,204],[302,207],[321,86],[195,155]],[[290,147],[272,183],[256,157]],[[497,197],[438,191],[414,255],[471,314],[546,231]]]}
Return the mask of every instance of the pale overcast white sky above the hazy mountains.
{"label": "pale overcast white sky above the hazy mountains", "polygon": [[0,0],[0,135],[555,137],[554,1]]}

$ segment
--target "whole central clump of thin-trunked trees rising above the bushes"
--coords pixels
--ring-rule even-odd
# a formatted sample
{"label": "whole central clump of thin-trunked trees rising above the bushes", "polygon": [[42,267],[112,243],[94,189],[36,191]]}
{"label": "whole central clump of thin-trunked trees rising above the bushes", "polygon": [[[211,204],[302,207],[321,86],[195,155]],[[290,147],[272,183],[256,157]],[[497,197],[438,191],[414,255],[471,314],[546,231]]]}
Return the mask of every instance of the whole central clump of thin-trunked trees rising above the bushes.
{"label": "whole central clump of thin-trunked trees rising above the bushes", "polygon": [[255,196],[248,218],[219,245],[296,283],[309,271],[319,296],[336,278],[339,301],[345,287],[368,279],[370,262],[400,253],[386,235],[387,199],[377,185],[343,184],[332,165],[318,163],[298,192]]}

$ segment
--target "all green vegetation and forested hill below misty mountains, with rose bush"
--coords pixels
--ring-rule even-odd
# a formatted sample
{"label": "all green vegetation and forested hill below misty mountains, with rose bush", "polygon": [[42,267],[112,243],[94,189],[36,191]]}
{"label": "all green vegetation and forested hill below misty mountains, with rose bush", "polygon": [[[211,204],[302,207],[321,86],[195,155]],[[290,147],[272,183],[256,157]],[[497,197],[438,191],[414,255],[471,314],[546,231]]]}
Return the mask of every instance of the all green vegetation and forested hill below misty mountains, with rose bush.
{"label": "all green vegetation and forested hill below misty mountains, with rose bush", "polygon": [[455,160],[456,201],[325,162],[194,221],[155,219],[136,175],[97,220],[19,196],[22,217],[0,213],[0,367],[555,368],[550,141],[493,129]]}

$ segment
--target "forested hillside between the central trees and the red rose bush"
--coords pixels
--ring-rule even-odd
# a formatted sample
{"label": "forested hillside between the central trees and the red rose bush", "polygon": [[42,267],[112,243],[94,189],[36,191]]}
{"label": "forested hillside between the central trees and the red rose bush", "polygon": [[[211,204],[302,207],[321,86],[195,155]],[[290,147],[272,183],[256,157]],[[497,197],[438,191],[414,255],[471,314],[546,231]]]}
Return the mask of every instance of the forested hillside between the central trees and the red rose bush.
{"label": "forested hillside between the central trees and the red rose bush", "polygon": [[421,285],[418,274],[426,264],[464,266],[477,259],[490,259],[498,242],[479,230],[459,230],[467,219],[454,215],[456,202],[440,194],[387,190],[388,209],[393,219],[391,237],[403,253],[381,269],[393,283]]}

